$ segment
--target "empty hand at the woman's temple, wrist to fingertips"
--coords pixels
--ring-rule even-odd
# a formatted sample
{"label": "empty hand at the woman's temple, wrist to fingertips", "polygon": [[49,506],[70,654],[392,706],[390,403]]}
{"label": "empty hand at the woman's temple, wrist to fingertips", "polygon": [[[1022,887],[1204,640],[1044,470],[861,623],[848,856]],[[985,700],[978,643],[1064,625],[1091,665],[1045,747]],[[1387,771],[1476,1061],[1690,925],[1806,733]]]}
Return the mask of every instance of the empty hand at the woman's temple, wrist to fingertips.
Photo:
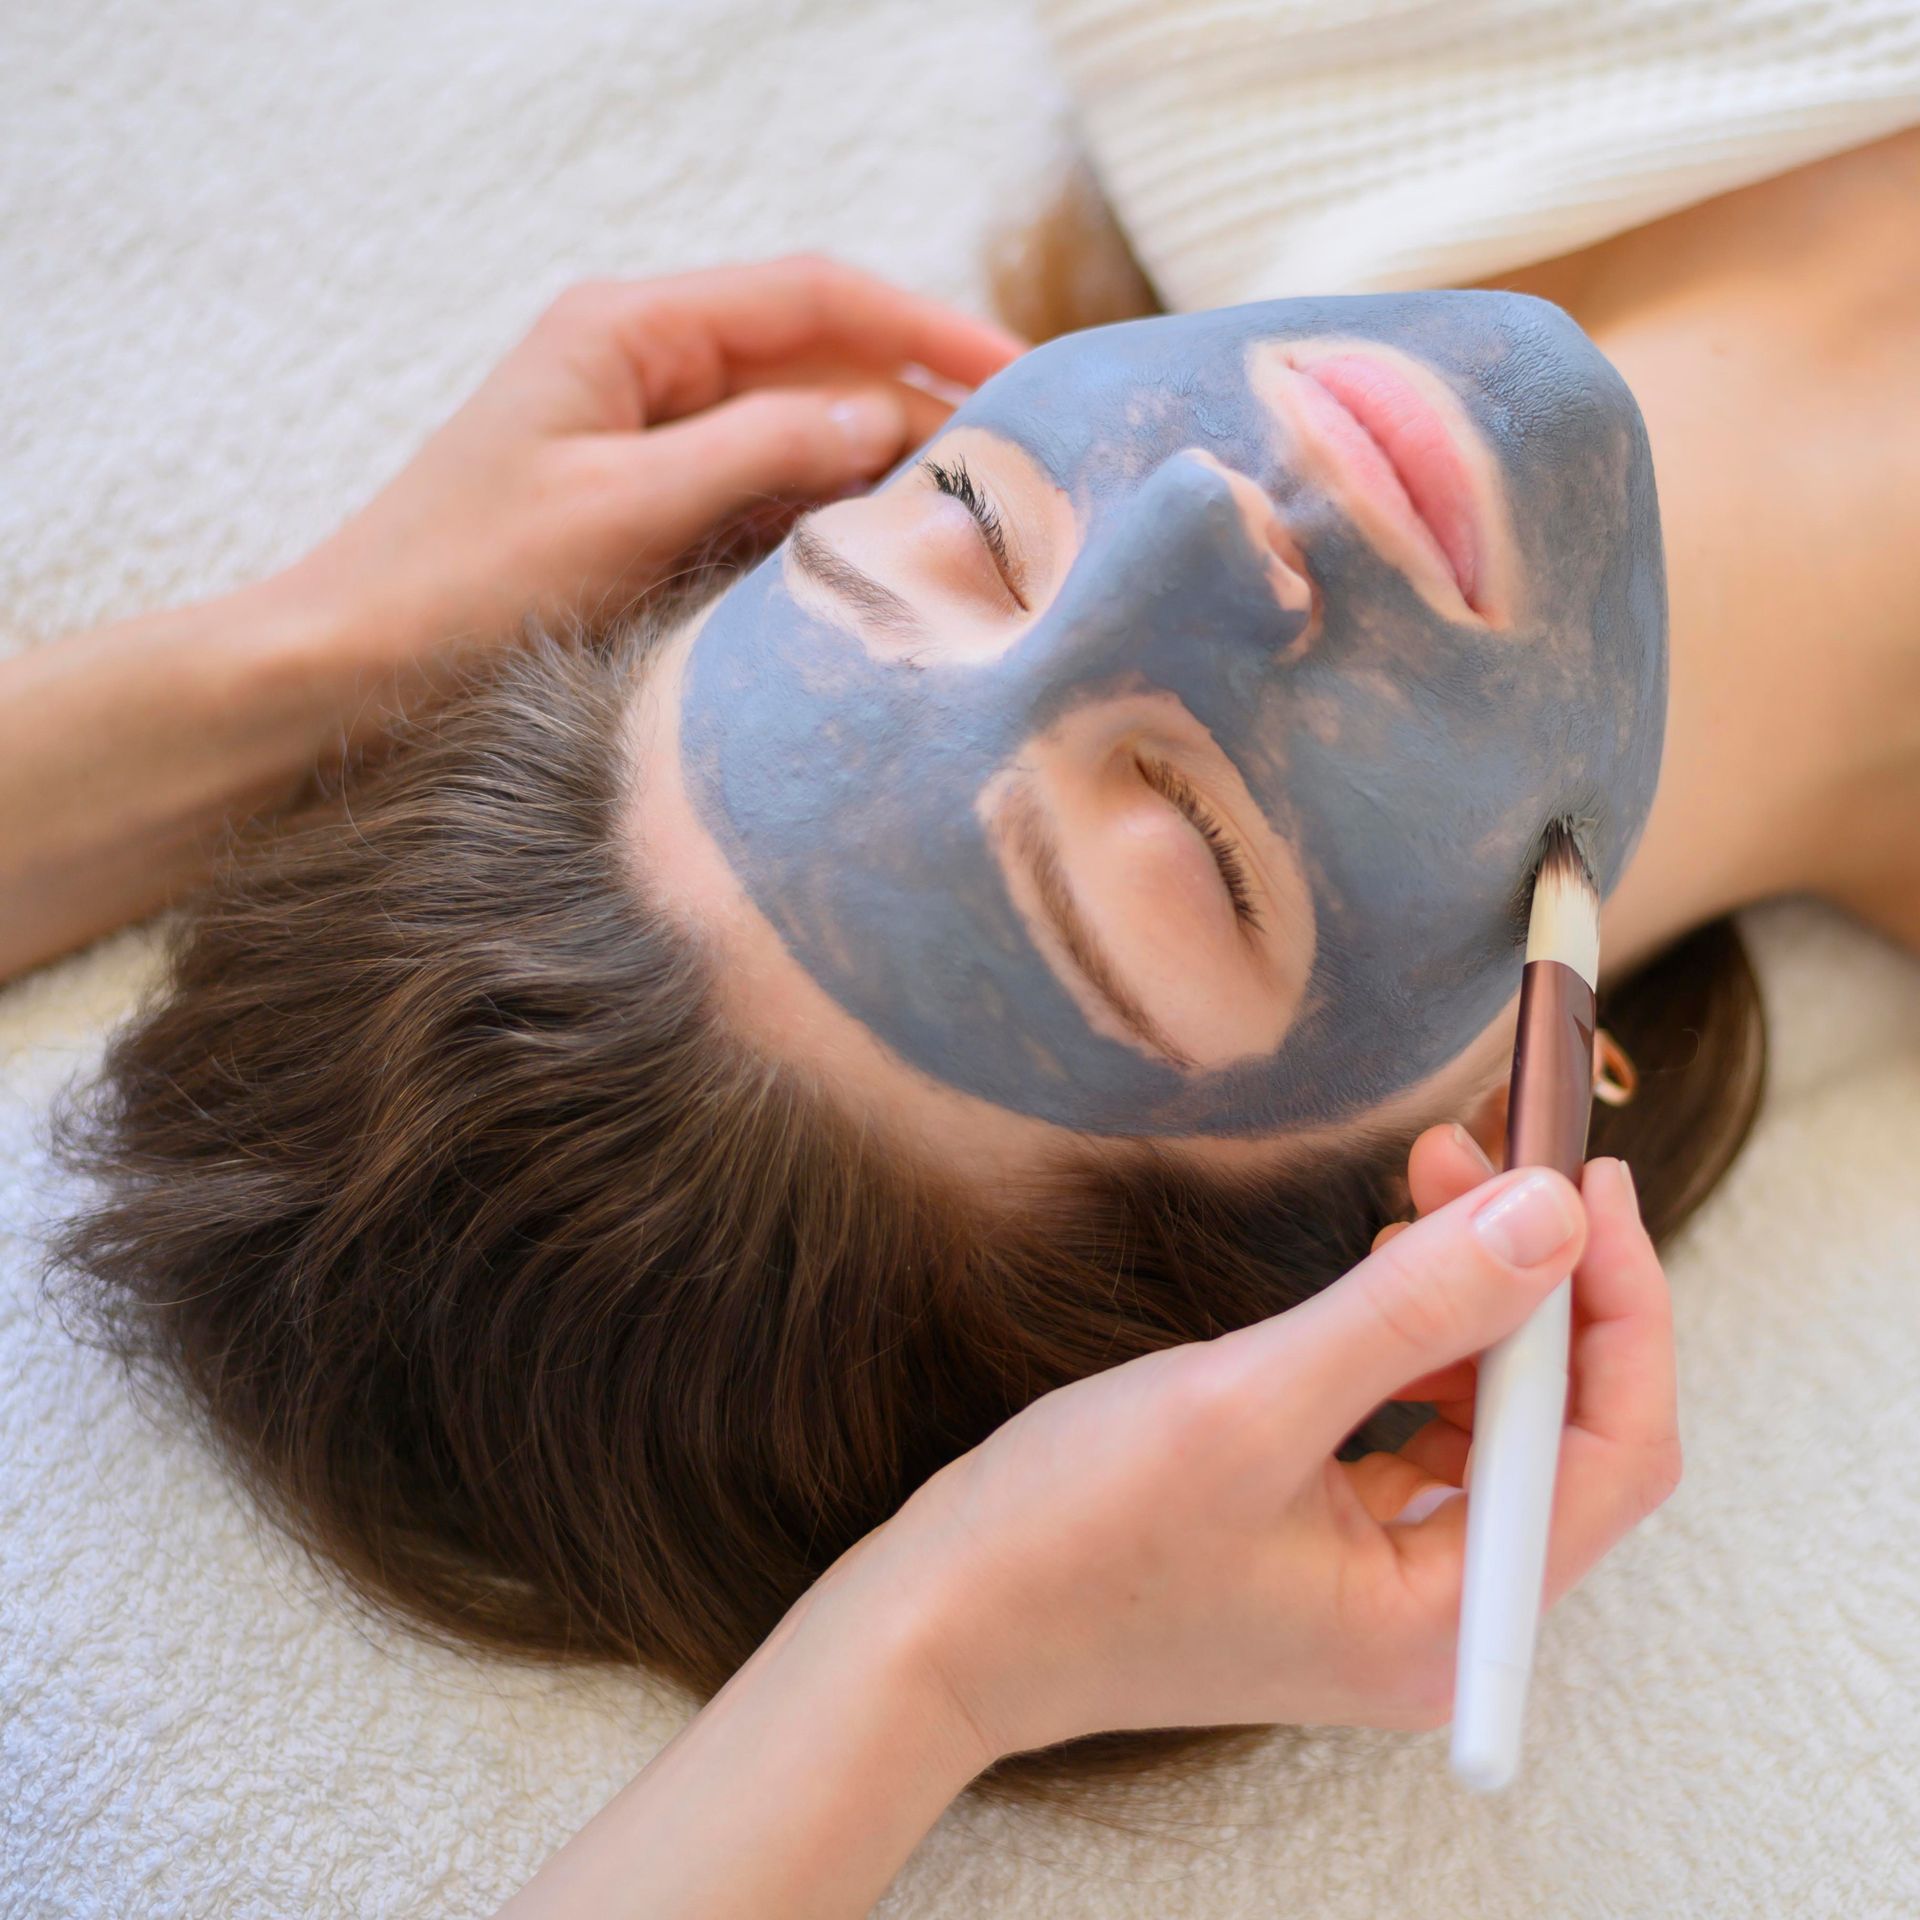
{"label": "empty hand at the woman's temple, wrist to fingertips", "polygon": [[[883,474],[1020,342],[824,259],[564,292],[290,589],[407,659],[609,618],[753,513]],[[378,664],[378,662],[374,662]]]}

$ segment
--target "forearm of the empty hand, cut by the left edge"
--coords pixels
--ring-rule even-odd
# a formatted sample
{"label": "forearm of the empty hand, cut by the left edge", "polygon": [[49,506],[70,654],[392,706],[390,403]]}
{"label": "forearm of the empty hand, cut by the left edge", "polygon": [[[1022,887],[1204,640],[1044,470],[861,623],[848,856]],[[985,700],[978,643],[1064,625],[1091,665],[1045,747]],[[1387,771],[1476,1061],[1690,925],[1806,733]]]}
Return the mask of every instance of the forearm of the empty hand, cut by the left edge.
{"label": "forearm of the empty hand, cut by the left edge", "polygon": [[296,576],[0,662],[0,979],[198,881],[376,678]]}

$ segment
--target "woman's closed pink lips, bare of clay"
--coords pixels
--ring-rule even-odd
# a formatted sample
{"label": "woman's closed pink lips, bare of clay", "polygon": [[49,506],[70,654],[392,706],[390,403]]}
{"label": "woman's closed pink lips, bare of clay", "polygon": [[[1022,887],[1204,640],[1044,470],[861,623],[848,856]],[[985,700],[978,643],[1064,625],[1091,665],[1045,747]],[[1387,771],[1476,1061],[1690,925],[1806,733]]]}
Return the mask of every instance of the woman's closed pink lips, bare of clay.
{"label": "woman's closed pink lips, bare of clay", "polygon": [[[1365,353],[1334,353],[1298,372],[1308,382],[1302,399],[1334,442],[1352,484],[1446,566],[1475,612],[1484,612],[1486,549],[1473,478],[1434,405]],[[1331,405],[1315,403],[1321,396]]]}

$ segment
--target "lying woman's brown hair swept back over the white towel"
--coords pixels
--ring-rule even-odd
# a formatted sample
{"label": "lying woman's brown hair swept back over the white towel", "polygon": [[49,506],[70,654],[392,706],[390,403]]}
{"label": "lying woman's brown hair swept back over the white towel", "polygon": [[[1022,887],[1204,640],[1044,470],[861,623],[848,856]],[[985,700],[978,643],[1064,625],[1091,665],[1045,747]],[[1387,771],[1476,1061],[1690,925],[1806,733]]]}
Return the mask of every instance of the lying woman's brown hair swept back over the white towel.
{"label": "lying woman's brown hair swept back over the white towel", "polygon": [[[240,837],[67,1114],[98,1196],[56,1271],[361,1597],[707,1697],[1039,1394],[1344,1273],[1405,1206],[1405,1142],[1258,1181],[1102,1154],[989,1221],[737,1039],[634,883],[651,647],[532,639]],[[1668,1235],[1759,1094],[1738,939],[1682,941],[1605,1020],[1644,1083],[1596,1150]],[[1260,1732],[1102,1734],[979,1784],[1085,1811]]]}

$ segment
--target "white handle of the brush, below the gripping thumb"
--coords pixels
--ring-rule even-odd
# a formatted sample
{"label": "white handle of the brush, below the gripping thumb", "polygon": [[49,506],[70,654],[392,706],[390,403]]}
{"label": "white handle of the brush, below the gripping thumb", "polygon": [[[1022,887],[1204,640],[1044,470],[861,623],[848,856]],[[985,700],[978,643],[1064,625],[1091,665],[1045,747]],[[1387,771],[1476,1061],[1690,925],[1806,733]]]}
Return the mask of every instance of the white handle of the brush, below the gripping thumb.
{"label": "white handle of the brush, below the gripping thumb", "polygon": [[1475,1388],[1452,1759],[1467,1786],[1488,1793],[1521,1764],[1567,1419],[1571,1313],[1572,1284],[1561,1281],[1519,1331],[1480,1356]]}

